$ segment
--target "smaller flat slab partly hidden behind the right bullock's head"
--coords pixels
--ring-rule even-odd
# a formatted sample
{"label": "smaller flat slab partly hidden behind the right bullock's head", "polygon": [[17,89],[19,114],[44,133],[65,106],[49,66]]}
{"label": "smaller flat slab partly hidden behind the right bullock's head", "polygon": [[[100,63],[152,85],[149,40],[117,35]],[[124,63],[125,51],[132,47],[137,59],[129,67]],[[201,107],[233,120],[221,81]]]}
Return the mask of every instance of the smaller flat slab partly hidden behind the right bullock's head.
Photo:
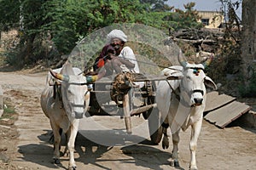
{"label": "smaller flat slab partly hidden behind the right bullock's head", "polygon": [[214,111],[224,105],[227,105],[233,101],[235,101],[236,98],[231,97],[226,94],[219,94],[217,91],[212,91],[207,94],[207,103],[205,108],[205,113],[209,111]]}

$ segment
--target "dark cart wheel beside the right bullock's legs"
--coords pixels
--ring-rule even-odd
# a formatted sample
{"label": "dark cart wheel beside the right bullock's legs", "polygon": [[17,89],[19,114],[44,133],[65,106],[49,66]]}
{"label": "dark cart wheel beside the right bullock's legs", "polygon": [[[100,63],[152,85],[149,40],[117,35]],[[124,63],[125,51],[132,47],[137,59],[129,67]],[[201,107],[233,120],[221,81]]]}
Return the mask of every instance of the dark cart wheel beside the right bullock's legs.
{"label": "dark cart wheel beside the right bullock's legs", "polygon": [[159,144],[163,135],[160,111],[154,111],[148,117],[148,129],[152,143]]}

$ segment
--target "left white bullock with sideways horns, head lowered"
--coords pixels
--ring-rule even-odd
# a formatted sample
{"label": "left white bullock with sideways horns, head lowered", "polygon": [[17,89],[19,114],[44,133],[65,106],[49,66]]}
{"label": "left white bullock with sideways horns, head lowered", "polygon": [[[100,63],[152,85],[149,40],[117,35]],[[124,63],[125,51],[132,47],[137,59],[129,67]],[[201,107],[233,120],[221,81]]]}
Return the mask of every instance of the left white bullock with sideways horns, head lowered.
{"label": "left white bullock with sideways horns, head lowered", "polygon": [[[76,169],[73,151],[78,133],[79,118],[84,116],[90,102],[90,93],[86,84],[97,79],[96,76],[84,77],[83,74],[79,75],[81,72],[69,63],[63,65],[61,69],[50,70],[46,87],[41,94],[41,107],[45,116],[49,118],[55,137],[53,159],[55,163],[60,163],[61,135],[59,132],[62,129],[67,134],[66,149],[69,151],[69,169]],[[49,82],[52,79],[61,82],[61,86],[50,86]]]}

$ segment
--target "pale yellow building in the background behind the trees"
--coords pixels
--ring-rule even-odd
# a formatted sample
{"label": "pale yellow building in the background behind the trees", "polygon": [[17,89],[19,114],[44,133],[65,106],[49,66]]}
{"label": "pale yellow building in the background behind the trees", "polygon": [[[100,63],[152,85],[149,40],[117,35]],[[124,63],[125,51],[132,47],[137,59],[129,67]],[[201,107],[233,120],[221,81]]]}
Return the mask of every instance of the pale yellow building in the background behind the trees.
{"label": "pale yellow building in the background behind the trees", "polygon": [[224,14],[220,11],[197,11],[201,22],[206,28],[219,28],[224,23]]}

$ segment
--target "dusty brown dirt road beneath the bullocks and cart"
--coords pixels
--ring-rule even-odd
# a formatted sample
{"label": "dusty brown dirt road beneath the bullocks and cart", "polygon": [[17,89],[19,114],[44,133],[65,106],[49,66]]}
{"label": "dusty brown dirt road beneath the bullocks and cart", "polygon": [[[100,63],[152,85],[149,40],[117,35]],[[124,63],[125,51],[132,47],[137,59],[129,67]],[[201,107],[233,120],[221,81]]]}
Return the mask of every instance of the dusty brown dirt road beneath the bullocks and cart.
{"label": "dusty brown dirt road beneath the bullocks and cart", "polygon": [[[1,121],[0,169],[66,169],[67,157],[61,157],[61,165],[51,161],[53,147],[48,143],[49,121],[39,105],[46,72],[0,72],[0,85],[4,96],[14,106],[18,115],[15,121]],[[108,122],[108,116],[97,117]],[[109,124],[113,123],[109,121]],[[116,118],[114,121],[118,122]],[[132,122],[144,122],[142,117],[132,117]],[[122,121],[122,123],[124,123]],[[124,125],[125,126],[125,125]],[[189,167],[189,129],[181,133],[180,165]],[[109,134],[98,132],[106,138]],[[172,148],[172,147],[171,147]],[[91,142],[81,134],[76,142],[78,169],[175,169],[170,167],[171,148],[162,150],[145,139],[141,144],[108,147]],[[256,131],[245,127],[219,129],[203,122],[198,141],[197,164],[199,169],[253,170],[256,167]]]}

